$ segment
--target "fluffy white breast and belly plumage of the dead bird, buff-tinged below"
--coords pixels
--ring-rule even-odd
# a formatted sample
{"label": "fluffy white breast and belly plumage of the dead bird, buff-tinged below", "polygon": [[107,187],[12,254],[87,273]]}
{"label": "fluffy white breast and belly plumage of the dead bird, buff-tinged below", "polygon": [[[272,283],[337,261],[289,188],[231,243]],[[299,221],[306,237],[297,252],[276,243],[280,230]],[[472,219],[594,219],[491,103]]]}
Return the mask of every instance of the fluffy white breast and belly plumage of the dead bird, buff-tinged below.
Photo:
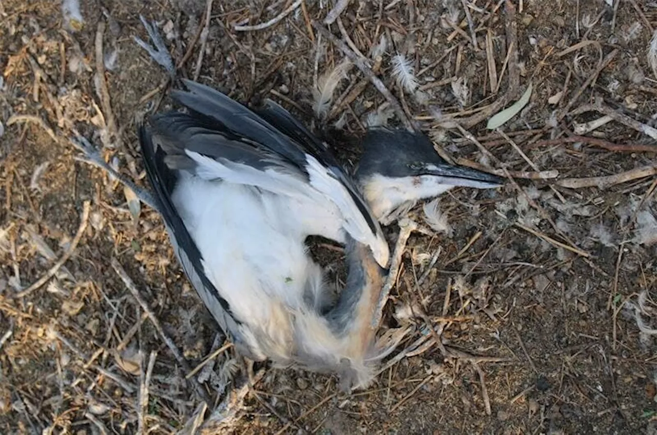
{"label": "fluffy white breast and belly plumage of the dead bird, buff-tinged below", "polygon": [[[208,279],[243,323],[240,332],[252,354],[282,365],[294,363],[294,355],[313,355],[327,367],[346,357],[365,380],[365,350],[354,354],[348,337],[335,336],[317,311],[325,296],[321,267],[307,255],[298,231],[303,214],[290,213],[292,204],[303,204],[246,185],[180,176],[173,204]],[[307,303],[307,289],[316,302]]]}

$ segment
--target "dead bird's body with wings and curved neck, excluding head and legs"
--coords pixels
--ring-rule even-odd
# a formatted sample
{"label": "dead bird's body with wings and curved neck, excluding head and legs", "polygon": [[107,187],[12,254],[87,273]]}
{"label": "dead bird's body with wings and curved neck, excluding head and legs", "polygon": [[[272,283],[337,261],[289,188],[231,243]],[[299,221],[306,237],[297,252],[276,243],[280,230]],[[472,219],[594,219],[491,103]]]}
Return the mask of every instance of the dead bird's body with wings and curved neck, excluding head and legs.
{"label": "dead bird's body with wings and curved neck, excluding head and legs", "polygon": [[[261,116],[183,82],[187,112],[152,116],[139,139],[154,198],[200,298],[242,354],[365,384],[388,244],[322,143],[270,103]],[[270,122],[268,122],[271,121]],[[337,302],[304,240],[346,244]]]}

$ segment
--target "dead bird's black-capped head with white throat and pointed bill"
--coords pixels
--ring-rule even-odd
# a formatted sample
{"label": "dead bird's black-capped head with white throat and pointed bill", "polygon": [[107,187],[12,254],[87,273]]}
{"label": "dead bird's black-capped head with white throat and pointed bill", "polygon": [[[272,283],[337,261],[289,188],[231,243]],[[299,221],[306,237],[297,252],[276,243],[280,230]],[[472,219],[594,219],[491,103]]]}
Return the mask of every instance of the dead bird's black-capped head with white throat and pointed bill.
{"label": "dead bird's black-capped head with white throat and pointed bill", "polygon": [[453,187],[489,189],[503,184],[497,175],[445,162],[422,133],[373,127],[363,138],[363,149],[355,176],[382,225],[395,221],[418,200]]}

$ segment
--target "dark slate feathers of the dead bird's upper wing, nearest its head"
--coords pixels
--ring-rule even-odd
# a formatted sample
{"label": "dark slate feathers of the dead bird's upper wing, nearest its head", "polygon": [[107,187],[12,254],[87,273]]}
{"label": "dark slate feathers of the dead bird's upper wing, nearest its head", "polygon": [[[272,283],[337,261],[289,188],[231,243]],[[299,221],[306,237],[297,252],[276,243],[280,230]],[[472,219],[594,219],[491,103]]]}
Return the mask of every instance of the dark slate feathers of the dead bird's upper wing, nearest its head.
{"label": "dark slate feathers of the dead bird's upper wing, nearest its head", "polygon": [[[298,173],[309,180],[311,156],[326,169],[322,175],[344,187],[374,238],[383,239],[380,226],[355,183],[325,146],[287,110],[270,101],[260,114],[256,114],[211,87],[189,80],[183,80],[183,83],[188,91],[172,91],[171,97],[191,113],[169,113],[164,114],[164,118],[152,120],[159,133],[168,137],[166,143],[178,148],[167,151],[172,154],[170,160],[180,159],[176,163],[179,168],[186,166],[186,159],[187,164],[192,164],[185,151],[190,150],[215,160],[225,159],[259,170],[274,167],[286,173]],[[349,210],[341,209],[346,213],[346,219],[358,220],[359,216],[349,216]]]}

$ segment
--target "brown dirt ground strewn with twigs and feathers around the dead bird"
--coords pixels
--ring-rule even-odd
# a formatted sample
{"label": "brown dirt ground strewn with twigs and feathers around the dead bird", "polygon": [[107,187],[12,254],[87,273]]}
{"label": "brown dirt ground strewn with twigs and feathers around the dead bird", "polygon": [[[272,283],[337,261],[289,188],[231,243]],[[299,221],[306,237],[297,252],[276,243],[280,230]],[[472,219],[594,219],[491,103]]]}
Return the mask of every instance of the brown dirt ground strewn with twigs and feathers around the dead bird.
{"label": "brown dirt ground strewn with twigs and feathers around the dead bird", "polygon": [[[157,214],[131,213],[129,192],[74,160],[68,137],[78,129],[143,183],[135,115],[170,104],[166,74],[133,41],[147,37],[143,14],[157,20],[179,74],[238,101],[279,101],[328,133],[351,166],[385,100],[351,68],[328,114],[313,114],[315,83],[344,54],[310,24],[332,2],[298,3],[214,2],[208,15],[201,0],[81,0],[72,32],[59,2],[0,2],[0,432],[189,433],[208,419],[206,432],[240,434],[657,433],[648,55],[657,4],[648,0],[351,1],[330,32],[373,60],[443,154],[514,182],[443,196],[438,221],[413,210],[426,231],[409,239],[382,331],[414,332],[367,390],[347,396],[335,378],[266,365],[240,390],[232,348],[185,380],[223,336]],[[262,30],[235,30],[290,7]],[[399,85],[396,55],[419,87]],[[530,83],[506,137],[486,130]],[[614,119],[581,131],[605,114]],[[387,231],[394,245],[397,225]],[[227,390],[233,414],[220,422],[212,408]]]}

